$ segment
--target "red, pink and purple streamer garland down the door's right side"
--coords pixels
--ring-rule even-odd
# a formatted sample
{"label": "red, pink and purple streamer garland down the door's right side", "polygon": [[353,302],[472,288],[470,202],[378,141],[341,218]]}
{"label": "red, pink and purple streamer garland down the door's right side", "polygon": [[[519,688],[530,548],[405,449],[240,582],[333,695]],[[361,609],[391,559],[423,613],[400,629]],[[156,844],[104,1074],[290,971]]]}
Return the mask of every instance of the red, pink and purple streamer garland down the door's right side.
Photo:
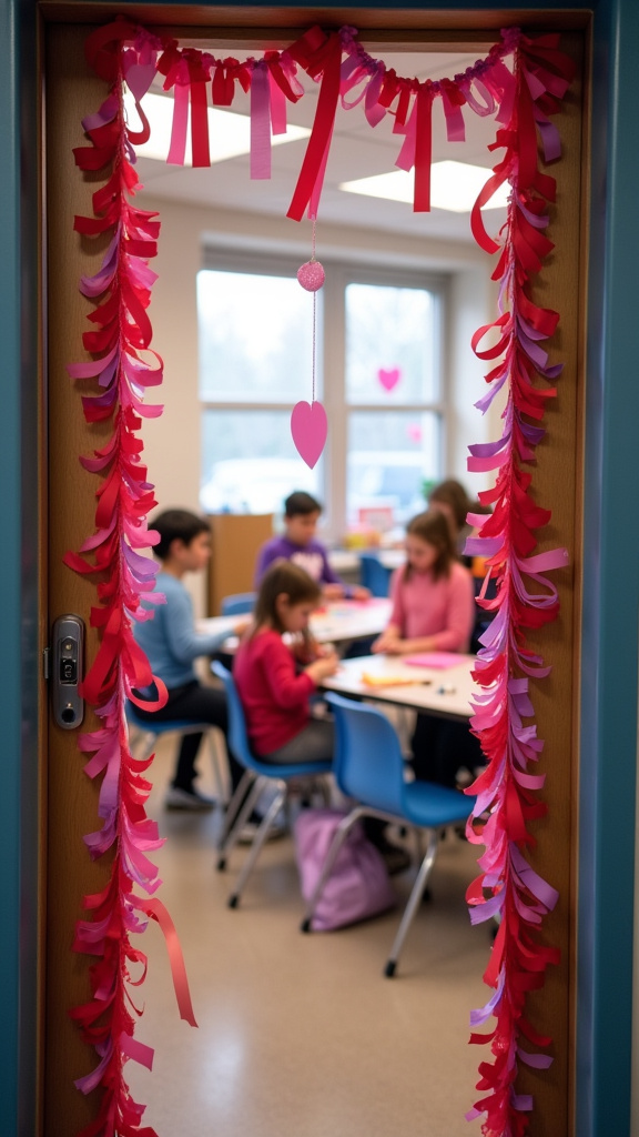
{"label": "red, pink and purple streamer garland down the door's right side", "polygon": [[[557,894],[524,856],[526,847],[536,844],[530,823],[546,812],[537,796],[545,775],[529,772],[529,764],[538,761],[543,745],[531,721],[534,708],[529,677],[540,679],[550,670],[528,648],[526,631],[556,619],[557,589],[545,574],[566,565],[569,557],[565,549],[531,556],[537,546],[536,531],[548,523],[550,512],[534,504],[531,474],[523,468],[523,463],[534,460],[536,447],[545,434],[539,423],[547,399],[555,396],[554,388],[542,390],[536,385],[537,376],[551,382],[562,370],[561,365],[548,366],[541,347],[541,341],[555,331],[558,314],[540,308],[529,292],[531,277],[541,271],[553,248],[542,230],[548,224],[545,198],[554,198],[555,184],[538,169],[537,126],[547,123],[547,113],[559,109],[558,92],[565,93],[573,74],[573,65],[557,50],[557,36],[531,41],[522,35],[514,75],[493,72],[493,81],[500,86],[498,91],[493,88],[491,94],[500,99],[504,123],[495,146],[504,147],[505,156],[472,214],[480,246],[488,252],[500,251],[493,273],[493,279],[500,281],[499,315],[473,337],[479,358],[500,362],[487,374],[491,390],[478,406],[486,410],[504,385],[508,392],[503,437],[493,443],[472,446],[468,459],[468,470],[498,471],[495,488],[480,493],[493,512],[489,516],[468,516],[479,537],[466,545],[466,553],[487,558],[487,583],[489,576],[497,581],[496,598],[479,601],[496,614],[482,636],[474,672],[484,692],[474,700],[472,724],[488,764],[467,790],[476,795],[474,816],[488,815],[486,824],[476,830],[472,820],[467,825],[468,839],[486,846],[479,861],[481,874],[467,891],[471,919],[478,922],[500,918],[484,973],[495,995],[471,1016],[473,1027],[495,1019],[490,1034],[471,1035],[472,1043],[489,1046],[492,1054],[492,1061],[479,1068],[478,1089],[486,1096],[468,1113],[468,1120],[484,1117],[484,1137],[523,1137],[529,1129],[533,1101],[516,1093],[520,1063],[545,1069],[553,1059],[528,1048],[532,1044],[546,1049],[551,1039],[540,1036],[529,1022],[526,994],[540,988],[547,966],[559,961],[558,951],[541,944],[537,935]],[[511,199],[499,244],[484,230],[481,206],[506,181]],[[482,349],[489,333],[497,335],[497,342]],[[534,591],[529,590],[526,579],[534,582]]]}

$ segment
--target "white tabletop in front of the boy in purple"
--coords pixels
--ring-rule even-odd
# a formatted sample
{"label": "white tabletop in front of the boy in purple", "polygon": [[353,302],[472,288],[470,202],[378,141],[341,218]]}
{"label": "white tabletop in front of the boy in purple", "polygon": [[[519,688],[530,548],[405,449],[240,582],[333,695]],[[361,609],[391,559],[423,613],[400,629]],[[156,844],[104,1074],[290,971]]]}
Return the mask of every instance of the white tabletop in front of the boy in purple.
{"label": "white tabletop in front of the boy in purple", "polygon": [[[318,644],[339,644],[379,636],[389,622],[391,603],[382,597],[371,600],[334,600],[317,608],[310,617],[310,631]],[[198,620],[196,628],[204,634],[227,631],[225,647],[236,646],[233,628],[246,616],[210,616]],[[235,641],[235,644],[233,642]]]}

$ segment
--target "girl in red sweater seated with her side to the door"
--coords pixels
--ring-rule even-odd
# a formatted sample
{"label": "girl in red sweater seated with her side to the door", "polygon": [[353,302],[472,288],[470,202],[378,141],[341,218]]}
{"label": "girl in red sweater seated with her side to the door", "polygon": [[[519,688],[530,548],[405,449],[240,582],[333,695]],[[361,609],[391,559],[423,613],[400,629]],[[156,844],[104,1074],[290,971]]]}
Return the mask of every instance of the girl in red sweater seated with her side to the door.
{"label": "girl in red sweater seated with her side to the door", "polygon": [[[250,744],[267,762],[317,762],[332,758],[333,723],[313,719],[309,699],[317,684],[339,666],[331,650],[309,658],[308,621],[321,597],[320,586],[290,561],[267,568],[233,664]],[[289,633],[292,642],[284,642]],[[302,664],[300,670],[300,663]]]}

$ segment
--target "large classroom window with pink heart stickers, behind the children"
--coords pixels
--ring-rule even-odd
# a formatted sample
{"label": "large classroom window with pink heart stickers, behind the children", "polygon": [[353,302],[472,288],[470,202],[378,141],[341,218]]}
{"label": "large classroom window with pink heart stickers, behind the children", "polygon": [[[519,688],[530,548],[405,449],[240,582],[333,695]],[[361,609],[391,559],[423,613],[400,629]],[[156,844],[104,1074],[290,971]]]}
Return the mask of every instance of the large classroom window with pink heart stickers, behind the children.
{"label": "large classroom window with pink heart stickers, behind the children", "polygon": [[[316,301],[300,262],[205,249],[198,274],[202,470],[207,512],[280,513],[293,489],[324,503],[325,537],[401,525],[441,476],[447,406],[443,287],[423,275],[324,262]],[[291,408],[316,398],[329,442],[310,471]]]}

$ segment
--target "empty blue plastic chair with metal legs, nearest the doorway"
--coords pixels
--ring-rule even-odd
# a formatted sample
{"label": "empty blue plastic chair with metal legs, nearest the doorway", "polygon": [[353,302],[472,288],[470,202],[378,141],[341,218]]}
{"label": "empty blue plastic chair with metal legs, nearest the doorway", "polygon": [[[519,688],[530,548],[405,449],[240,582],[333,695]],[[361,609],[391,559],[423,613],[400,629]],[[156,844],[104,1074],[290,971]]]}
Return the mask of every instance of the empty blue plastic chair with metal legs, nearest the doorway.
{"label": "empty blue plastic chair with metal legs, nearest the doorway", "polygon": [[354,699],[345,699],[340,695],[326,695],[326,702],[335,717],[333,772],[342,794],[355,799],[357,805],[335,831],[308,902],[301,930],[310,931],[313,914],[324,885],[349,830],[359,818],[381,818],[425,830],[426,850],[384,968],[384,974],[390,978],[396,972],[404,940],[426,888],[437,854],[439,831],[447,825],[465,822],[473,799],[434,782],[406,781],[397,731],[381,711]]}

